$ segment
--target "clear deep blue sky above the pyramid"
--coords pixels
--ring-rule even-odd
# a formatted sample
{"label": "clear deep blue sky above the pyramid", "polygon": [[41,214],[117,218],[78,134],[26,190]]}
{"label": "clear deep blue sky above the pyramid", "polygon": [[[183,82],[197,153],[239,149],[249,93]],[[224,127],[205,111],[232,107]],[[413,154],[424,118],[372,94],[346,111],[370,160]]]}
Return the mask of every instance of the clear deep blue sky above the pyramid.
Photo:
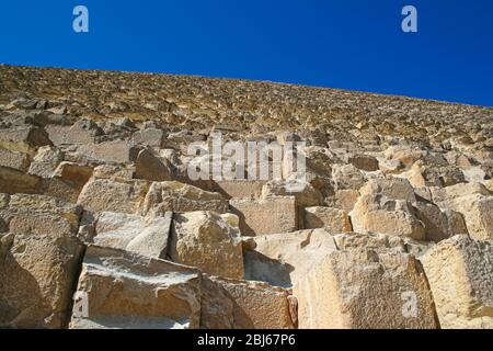
{"label": "clear deep blue sky above the pyramid", "polygon": [[[72,31],[72,9],[90,33]],[[419,10],[419,33],[401,10]],[[0,63],[295,82],[493,106],[492,0],[2,0]]]}

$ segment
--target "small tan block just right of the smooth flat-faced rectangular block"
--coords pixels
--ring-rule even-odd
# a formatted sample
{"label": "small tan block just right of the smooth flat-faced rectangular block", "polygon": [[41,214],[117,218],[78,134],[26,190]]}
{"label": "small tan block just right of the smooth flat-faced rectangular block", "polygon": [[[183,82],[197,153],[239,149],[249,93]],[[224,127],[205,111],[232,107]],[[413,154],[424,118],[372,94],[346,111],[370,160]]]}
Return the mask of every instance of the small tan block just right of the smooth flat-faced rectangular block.
{"label": "small tan block just right of the smooth flat-faced rectangular block", "polygon": [[329,234],[352,231],[349,216],[343,210],[332,207],[305,208],[305,228],[323,228]]}

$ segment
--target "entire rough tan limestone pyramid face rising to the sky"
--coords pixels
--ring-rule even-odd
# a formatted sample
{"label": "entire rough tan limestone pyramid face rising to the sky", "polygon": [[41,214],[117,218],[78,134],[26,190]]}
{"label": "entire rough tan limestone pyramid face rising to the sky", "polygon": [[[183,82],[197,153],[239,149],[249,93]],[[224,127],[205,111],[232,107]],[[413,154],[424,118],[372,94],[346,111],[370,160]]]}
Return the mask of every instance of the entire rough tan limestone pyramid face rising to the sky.
{"label": "entire rough tan limestone pyramid face rising to the sky", "polygon": [[[18,261],[12,257],[19,257],[26,271],[35,272],[33,284],[49,286],[42,292],[45,295],[10,290],[8,298],[0,298],[0,309],[9,309],[0,313],[2,324],[10,324],[7,327],[67,327],[70,304],[65,296],[76,290],[81,269],[73,263],[77,252],[70,242],[78,238],[87,245],[95,239],[126,250],[116,254],[126,257],[125,269],[111,263],[113,258],[96,263],[104,265],[104,274],[94,286],[101,296],[113,295],[101,299],[99,317],[77,320],[78,327],[87,328],[183,327],[190,320],[204,328],[296,326],[296,297],[289,291],[264,283],[225,283],[234,286],[233,294],[206,275],[243,278],[242,269],[248,280],[278,287],[290,288],[309,279],[312,295],[295,292],[302,326],[324,325],[323,316],[330,312],[337,327],[429,327],[433,308],[426,304],[419,307],[419,321],[398,314],[403,302],[395,294],[401,288],[415,288],[420,302],[428,301],[429,288],[422,284],[412,256],[421,259],[454,235],[468,234],[482,240],[477,241],[482,249],[463,250],[469,252],[461,256],[467,259],[456,261],[471,262],[479,270],[484,261],[491,265],[483,254],[493,233],[491,107],[187,76],[0,65],[0,192],[4,193],[0,194],[0,258],[10,258],[9,270],[15,270]],[[253,180],[252,170],[241,172],[238,167],[257,165],[254,155],[234,168],[251,181],[216,183],[218,178],[208,176],[193,180],[188,168],[196,159],[188,147],[197,143],[210,151],[217,133],[221,146],[238,141],[288,147],[301,141],[306,147],[284,150],[282,160],[271,155],[268,171],[260,172],[268,176],[265,180]],[[299,191],[291,186],[295,155],[306,157],[307,184]],[[232,160],[231,155],[222,157]],[[283,179],[273,178],[274,167]],[[321,214],[329,211],[324,206],[333,208],[330,216]],[[169,227],[168,212],[193,217],[180,223],[186,229],[181,240],[171,236],[168,242],[162,235]],[[203,216],[196,212],[207,212],[208,219],[200,222]],[[349,230],[343,212],[351,214],[356,233],[337,233]],[[104,220],[98,222],[102,214]],[[326,230],[296,231],[321,226],[311,219],[323,223]],[[136,245],[129,246],[136,238]],[[197,287],[190,293],[195,307],[188,297],[175,303],[168,293],[159,305],[157,292],[173,291],[170,279],[183,274],[172,263],[153,258],[172,254],[196,267],[191,274],[198,281],[202,276],[197,283],[184,279],[186,288]],[[149,263],[154,261],[161,263]],[[458,264],[454,262],[451,267]],[[446,276],[440,284],[482,276],[449,270],[448,263],[437,264]],[[164,273],[161,268],[146,271],[152,273],[142,279],[141,267],[149,264],[168,268]],[[20,271],[8,275],[10,285],[0,281],[1,294],[4,286],[31,284],[27,273]],[[122,280],[114,278],[123,272],[125,284],[131,285],[128,298],[121,295]],[[161,274],[165,279],[158,278]],[[162,283],[156,290],[154,278]],[[73,284],[67,294],[70,279]],[[337,286],[334,281],[343,283]],[[482,283],[488,279],[479,281],[469,284],[472,290],[459,290],[471,291],[469,295],[456,298],[452,292],[447,297],[447,306],[459,309],[471,301],[467,296],[479,301],[456,318],[460,324],[474,320],[465,322],[468,327],[484,327],[491,315],[483,297],[492,288]],[[293,307],[288,313],[286,301]],[[135,314],[133,306],[138,306]],[[152,314],[171,307],[179,308],[176,318]],[[307,310],[320,315],[307,320]],[[274,318],[275,312],[280,317]]]}

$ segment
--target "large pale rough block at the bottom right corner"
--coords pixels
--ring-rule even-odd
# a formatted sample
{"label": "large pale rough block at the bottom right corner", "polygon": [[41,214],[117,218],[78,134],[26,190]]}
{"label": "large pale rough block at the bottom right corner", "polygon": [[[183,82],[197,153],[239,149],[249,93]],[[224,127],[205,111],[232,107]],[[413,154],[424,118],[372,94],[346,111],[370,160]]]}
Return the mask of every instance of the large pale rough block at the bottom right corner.
{"label": "large pale rough block at the bottom right corner", "polygon": [[442,328],[493,328],[493,244],[444,240],[421,258]]}

